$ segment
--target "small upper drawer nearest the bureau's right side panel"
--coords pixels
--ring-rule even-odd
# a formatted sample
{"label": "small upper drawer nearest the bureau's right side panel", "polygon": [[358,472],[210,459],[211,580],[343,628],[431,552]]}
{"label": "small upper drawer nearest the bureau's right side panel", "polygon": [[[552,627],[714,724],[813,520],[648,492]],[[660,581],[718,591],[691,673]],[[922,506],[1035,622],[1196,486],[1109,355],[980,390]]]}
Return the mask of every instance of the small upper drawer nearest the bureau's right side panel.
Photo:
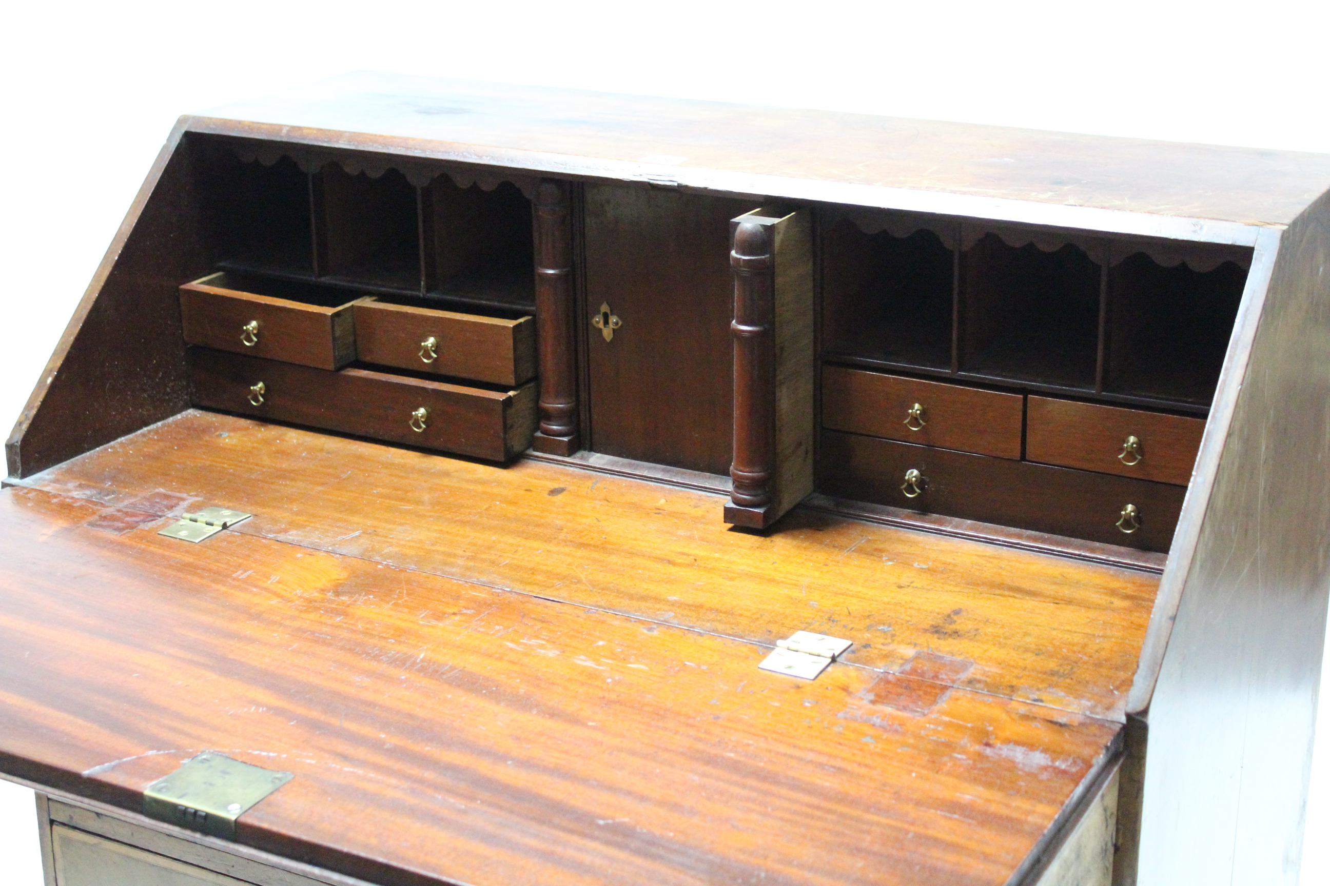
{"label": "small upper drawer nearest the bureau's right side panel", "polygon": [[1033,396],[1027,422],[1029,461],[1181,486],[1192,481],[1205,432],[1202,418]]}

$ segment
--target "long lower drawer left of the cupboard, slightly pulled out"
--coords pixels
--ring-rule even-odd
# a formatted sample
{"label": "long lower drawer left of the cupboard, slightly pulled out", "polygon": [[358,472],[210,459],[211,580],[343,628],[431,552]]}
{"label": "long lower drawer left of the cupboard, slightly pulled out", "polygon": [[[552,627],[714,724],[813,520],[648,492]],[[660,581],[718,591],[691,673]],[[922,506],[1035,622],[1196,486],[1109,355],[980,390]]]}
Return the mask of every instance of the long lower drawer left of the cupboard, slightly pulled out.
{"label": "long lower drawer left of the cupboard, slightly pulled out", "polygon": [[[493,392],[202,348],[190,351],[190,384],[200,406],[491,461],[507,461],[527,449],[536,429],[535,384]],[[423,418],[418,409],[426,410]]]}

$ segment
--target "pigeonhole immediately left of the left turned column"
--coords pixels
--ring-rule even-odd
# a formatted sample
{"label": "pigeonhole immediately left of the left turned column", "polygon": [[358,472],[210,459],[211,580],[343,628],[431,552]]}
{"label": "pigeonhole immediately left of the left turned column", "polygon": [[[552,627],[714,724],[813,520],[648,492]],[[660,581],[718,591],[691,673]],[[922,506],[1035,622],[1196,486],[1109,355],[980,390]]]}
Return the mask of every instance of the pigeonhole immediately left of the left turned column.
{"label": "pigeonhole immediately left of the left turned column", "polygon": [[427,295],[468,306],[535,310],[531,201],[516,185],[462,187],[439,175],[423,197]]}

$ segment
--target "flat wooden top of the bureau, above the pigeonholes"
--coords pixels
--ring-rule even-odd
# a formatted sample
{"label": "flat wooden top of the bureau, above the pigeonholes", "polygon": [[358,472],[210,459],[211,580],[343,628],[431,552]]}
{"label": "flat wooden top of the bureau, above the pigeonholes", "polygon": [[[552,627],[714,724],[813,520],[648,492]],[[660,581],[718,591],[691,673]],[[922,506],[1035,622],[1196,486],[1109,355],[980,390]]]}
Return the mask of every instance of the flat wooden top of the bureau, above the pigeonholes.
{"label": "flat wooden top of the bureau, above the pigeonholes", "polygon": [[181,122],[555,177],[1236,246],[1330,190],[1330,154],[364,72]]}

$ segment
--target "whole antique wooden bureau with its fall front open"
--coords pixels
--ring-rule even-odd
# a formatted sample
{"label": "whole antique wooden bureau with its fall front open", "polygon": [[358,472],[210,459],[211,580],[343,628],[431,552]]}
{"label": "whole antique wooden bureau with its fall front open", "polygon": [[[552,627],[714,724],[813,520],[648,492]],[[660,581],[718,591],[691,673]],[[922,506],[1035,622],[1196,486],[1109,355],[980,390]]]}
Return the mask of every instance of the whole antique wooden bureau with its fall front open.
{"label": "whole antique wooden bureau with its fall front open", "polygon": [[[1293,883],[1327,186],[368,73],[184,117],[7,444],[53,882]],[[294,778],[141,816],[202,751]]]}

